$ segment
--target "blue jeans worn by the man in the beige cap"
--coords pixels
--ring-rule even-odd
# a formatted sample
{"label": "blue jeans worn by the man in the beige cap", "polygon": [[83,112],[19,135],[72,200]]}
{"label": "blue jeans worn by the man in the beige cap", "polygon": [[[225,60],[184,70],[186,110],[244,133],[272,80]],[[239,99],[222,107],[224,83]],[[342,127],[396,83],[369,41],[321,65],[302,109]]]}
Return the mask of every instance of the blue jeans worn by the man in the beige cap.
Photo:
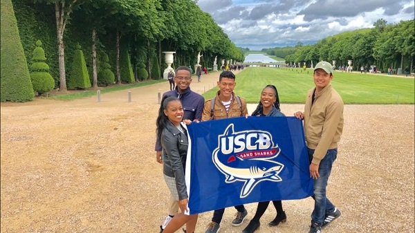
{"label": "blue jeans worn by the man in the beige cap", "polygon": [[[307,148],[308,159],[313,160],[314,150]],[[334,212],[334,205],[330,202],[329,198],[326,197],[327,181],[331,173],[331,167],[335,158],[337,158],[338,149],[329,149],[326,156],[320,161],[318,167],[318,173],[320,177],[314,180],[314,210],[311,214],[312,223],[323,224],[326,213]]]}

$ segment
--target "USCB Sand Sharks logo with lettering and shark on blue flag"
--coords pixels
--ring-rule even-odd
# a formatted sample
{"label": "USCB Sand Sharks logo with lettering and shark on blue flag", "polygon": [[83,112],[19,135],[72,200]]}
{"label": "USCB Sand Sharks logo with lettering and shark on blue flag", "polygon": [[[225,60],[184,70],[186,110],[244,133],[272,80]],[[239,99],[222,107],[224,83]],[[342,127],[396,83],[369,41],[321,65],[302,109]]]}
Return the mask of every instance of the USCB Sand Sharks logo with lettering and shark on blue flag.
{"label": "USCB Sand Sharks logo with lettering and shark on blue flag", "polygon": [[244,183],[241,198],[248,196],[261,181],[282,181],[278,174],[284,165],[273,160],[280,149],[267,131],[234,132],[234,124],[230,124],[218,139],[212,160],[225,175],[226,183]]}

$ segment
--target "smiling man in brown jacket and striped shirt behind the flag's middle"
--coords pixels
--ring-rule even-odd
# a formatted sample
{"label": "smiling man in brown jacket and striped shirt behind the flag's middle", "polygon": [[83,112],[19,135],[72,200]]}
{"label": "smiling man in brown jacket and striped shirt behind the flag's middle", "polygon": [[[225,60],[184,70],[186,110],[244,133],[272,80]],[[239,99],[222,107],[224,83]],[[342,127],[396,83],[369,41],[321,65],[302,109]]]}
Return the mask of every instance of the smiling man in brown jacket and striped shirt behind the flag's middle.
{"label": "smiling man in brown jacket and striped shirt behind the flag's middle", "polygon": [[[223,71],[219,75],[217,82],[219,91],[216,97],[205,102],[202,113],[202,121],[217,120],[223,118],[235,118],[240,116],[248,116],[246,108],[246,100],[235,95],[233,92],[237,83],[235,75],[231,71]],[[212,102],[213,101],[213,102]],[[232,225],[239,226],[243,223],[248,212],[243,205],[235,206],[237,209],[237,217],[232,221]],[[213,213],[212,222],[209,223],[206,233],[216,233],[220,229],[223,213],[225,209],[216,209]]]}

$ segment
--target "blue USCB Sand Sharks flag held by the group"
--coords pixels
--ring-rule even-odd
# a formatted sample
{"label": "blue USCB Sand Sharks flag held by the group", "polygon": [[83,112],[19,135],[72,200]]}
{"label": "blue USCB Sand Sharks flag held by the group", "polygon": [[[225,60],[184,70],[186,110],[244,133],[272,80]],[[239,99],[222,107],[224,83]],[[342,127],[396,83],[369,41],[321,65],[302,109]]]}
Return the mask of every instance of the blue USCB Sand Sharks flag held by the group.
{"label": "blue USCB Sand Sharks flag held by the group", "polygon": [[228,118],[187,129],[190,214],[313,195],[302,120]]}

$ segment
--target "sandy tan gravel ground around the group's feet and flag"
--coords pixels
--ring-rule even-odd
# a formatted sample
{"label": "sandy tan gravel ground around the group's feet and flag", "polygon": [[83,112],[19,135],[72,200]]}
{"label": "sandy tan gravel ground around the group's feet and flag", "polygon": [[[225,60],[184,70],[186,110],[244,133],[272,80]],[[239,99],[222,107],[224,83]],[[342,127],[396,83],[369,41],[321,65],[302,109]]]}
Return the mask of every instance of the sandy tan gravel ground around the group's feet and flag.
{"label": "sandy tan gravel ground around the group's feet and flag", "polygon": [[[196,77],[203,93],[219,73]],[[196,80],[196,81],[195,81]],[[1,103],[1,232],[158,232],[168,190],[154,152],[158,93],[168,83],[97,97]],[[305,93],[304,93],[305,95]],[[302,104],[282,104],[292,115]],[[255,108],[250,104],[250,112]],[[328,196],[342,216],[323,232],[414,232],[414,105],[346,105]],[[313,201],[283,201],[287,222],[257,232],[308,232]],[[255,213],[246,205],[241,232]],[[199,216],[205,232],[212,212]]]}

